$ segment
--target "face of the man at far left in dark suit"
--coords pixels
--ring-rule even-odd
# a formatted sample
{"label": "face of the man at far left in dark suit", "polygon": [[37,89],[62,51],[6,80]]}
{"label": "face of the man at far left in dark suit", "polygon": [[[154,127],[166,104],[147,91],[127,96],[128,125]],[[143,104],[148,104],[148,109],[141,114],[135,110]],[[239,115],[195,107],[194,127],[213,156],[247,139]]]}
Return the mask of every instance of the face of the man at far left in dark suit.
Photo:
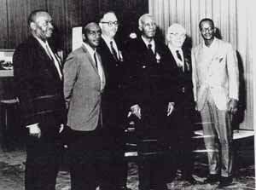
{"label": "face of the man at far left in dark suit", "polygon": [[50,15],[46,12],[37,14],[36,19],[32,22],[32,31],[40,39],[46,40],[52,36],[54,26]]}

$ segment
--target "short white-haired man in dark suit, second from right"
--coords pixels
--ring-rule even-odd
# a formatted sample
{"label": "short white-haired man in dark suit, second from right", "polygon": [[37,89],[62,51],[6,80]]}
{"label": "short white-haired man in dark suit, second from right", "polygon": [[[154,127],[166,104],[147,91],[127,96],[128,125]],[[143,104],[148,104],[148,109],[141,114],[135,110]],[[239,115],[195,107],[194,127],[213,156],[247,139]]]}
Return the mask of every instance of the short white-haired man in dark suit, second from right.
{"label": "short white-haired man in dark suit, second from right", "polygon": [[194,95],[192,85],[190,49],[183,47],[186,31],[183,26],[174,23],[169,26],[166,39],[170,49],[170,61],[175,63],[177,71],[176,107],[170,117],[171,145],[176,154],[177,164],[181,168],[182,180],[195,184],[192,177],[192,127]]}

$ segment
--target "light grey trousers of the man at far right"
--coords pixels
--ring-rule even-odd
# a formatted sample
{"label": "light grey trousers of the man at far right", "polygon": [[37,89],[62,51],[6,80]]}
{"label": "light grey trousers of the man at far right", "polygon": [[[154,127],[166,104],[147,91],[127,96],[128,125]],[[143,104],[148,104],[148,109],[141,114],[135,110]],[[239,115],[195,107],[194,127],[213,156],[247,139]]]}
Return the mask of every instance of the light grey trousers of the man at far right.
{"label": "light grey trousers of the man at far right", "polygon": [[210,93],[201,110],[201,121],[210,174],[215,175],[220,172],[221,176],[232,176],[231,115],[226,110],[219,110],[216,107]]}

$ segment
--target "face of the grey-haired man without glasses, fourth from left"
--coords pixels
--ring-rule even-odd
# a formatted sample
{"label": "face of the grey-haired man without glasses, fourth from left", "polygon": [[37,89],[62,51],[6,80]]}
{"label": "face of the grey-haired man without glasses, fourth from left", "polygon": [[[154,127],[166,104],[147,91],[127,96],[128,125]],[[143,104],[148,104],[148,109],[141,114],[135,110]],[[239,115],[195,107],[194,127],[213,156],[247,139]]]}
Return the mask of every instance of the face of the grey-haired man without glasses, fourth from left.
{"label": "face of the grey-haired man without glasses, fourth from left", "polygon": [[151,17],[145,17],[142,20],[142,26],[139,27],[143,37],[153,38],[156,32],[156,24]]}

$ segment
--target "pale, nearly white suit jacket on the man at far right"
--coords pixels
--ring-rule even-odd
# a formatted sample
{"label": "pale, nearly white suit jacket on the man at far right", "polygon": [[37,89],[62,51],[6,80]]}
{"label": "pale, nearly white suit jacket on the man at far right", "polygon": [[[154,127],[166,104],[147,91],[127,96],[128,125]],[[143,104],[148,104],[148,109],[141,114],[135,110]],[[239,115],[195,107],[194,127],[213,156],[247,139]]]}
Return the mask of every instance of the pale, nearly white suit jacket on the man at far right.
{"label": "pale, nearly white suit jacket on the man at far right", "polygon": [[236,52],[230,43],[218,38],[212,42],[211,55],[204,43],[192,49],[192,76],[195,101],[201,110],[211,93],[220,110],[226,110],[230,98],[238,100],[239,73]]}

